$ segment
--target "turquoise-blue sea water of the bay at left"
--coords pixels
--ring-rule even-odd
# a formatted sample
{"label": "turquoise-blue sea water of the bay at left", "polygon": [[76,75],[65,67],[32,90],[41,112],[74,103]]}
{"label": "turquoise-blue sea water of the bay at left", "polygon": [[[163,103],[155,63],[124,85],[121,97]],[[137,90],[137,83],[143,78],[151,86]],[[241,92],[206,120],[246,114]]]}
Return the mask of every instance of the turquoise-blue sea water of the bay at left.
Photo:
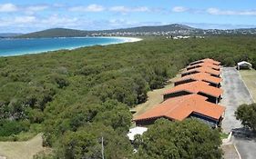
{"label": "turquoise-blue sea water of the bay at left", "polygon": [[0,39],[0,56],[36,54],[59,49],[74,49],[82,46],[123,43],[115,37],[66,37],[34,39]]}

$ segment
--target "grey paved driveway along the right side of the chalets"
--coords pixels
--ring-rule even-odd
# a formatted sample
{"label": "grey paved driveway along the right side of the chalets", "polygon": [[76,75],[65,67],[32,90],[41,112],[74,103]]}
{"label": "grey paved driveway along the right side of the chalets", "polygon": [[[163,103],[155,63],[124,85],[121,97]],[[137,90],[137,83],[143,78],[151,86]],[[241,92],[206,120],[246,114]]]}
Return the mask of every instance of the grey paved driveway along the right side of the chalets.
{"label": "grey paved driveway along the right side of the chalets", "polygon": [[223,131],[229,133],[232,129],[241,132],[232,138],[242,159],[256,158],[256,139],[245,133],[242,129],[241,122],[236,120],[234,112],[240,104],[251,104],[252,98],[247,87],[241,80],[239,72],[232,67],[221,69],[223,81],[221,83],[224,90],[223,99],[220,104],[226,106],[225,118],[222,123]]}

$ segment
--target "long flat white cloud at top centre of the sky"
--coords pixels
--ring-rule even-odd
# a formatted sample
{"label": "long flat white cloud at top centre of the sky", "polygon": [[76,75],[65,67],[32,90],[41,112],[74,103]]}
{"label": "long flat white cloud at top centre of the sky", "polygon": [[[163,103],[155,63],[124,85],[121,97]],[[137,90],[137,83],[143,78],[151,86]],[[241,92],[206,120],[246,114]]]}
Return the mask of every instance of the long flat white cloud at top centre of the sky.
{"label": "long flat white cloud at top centre of the sky", "polygon": [[110,7],[109,11],[128,13],[128,12],[148,12],[150,10],[146,6],[126,7],[126,6],[120,5],[120,6],[112,6],[112,7]]}

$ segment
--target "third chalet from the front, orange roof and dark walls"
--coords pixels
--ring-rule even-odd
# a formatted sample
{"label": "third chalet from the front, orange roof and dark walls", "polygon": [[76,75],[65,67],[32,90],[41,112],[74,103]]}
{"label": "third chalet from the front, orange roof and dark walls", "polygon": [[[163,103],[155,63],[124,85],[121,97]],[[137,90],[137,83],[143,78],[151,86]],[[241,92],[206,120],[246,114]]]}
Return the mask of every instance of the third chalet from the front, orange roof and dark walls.
{"label": "third chalet from the front, orange roof and dark walls", "polygon": [[174,82],[174,86],[177,86],[179,84],[187,84],[190,82],[195,82],[195,81],[203,81],[209,83],[211,86],[215,87],[220,87],[220,82],[222,81],[221,78],[211,76],[210,74],[207,73],[198,73],[198,74],[193,74],[193,75],[186,75]]}

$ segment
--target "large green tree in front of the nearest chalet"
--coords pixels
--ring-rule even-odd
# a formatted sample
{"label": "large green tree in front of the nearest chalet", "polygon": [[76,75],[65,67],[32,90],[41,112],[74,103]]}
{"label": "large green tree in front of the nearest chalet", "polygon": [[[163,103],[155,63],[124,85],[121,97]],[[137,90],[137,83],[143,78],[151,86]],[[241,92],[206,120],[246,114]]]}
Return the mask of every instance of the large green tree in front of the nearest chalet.
{"label": "large green tree in front of the nearest chalet", "polygon": [[220,133],[196,119],[160,119],[142,135],[137,158],[221,158]]}

